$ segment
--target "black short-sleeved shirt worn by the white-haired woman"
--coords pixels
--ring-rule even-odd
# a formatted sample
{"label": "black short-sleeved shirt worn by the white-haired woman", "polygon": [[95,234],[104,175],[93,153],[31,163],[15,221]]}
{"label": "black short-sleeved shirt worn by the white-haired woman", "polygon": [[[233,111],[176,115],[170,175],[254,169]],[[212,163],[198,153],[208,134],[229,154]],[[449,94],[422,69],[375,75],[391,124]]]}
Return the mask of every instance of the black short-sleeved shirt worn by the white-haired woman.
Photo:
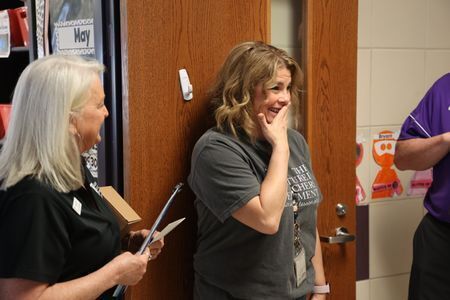
{"label": "black short-sleeved shirt worn by the white-haired woman", "polygon": [[115,215],[85,174],[85,187],[70,193],[31,177],[0,191],[0,278],[64,282],[120,253]]}

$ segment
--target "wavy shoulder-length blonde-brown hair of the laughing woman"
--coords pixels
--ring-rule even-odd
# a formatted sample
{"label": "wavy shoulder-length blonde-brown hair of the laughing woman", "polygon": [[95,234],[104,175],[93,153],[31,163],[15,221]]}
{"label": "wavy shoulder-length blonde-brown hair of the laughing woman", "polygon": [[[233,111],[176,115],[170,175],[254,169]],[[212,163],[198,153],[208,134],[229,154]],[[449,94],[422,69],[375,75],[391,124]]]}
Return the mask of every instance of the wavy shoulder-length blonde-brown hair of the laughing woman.
{"label": "wavy shoulder-length blonde-brown hair of the laughing woman", "polygon": [[244,42],[235,46],[217,74],[210,96],[217,128],[239,138],[238,132],[255,141],[253,94],[259,84],[275,81],[277,71],[291,72],[291,102],[298,108],[303,72],[286,51],[263,42]]}

